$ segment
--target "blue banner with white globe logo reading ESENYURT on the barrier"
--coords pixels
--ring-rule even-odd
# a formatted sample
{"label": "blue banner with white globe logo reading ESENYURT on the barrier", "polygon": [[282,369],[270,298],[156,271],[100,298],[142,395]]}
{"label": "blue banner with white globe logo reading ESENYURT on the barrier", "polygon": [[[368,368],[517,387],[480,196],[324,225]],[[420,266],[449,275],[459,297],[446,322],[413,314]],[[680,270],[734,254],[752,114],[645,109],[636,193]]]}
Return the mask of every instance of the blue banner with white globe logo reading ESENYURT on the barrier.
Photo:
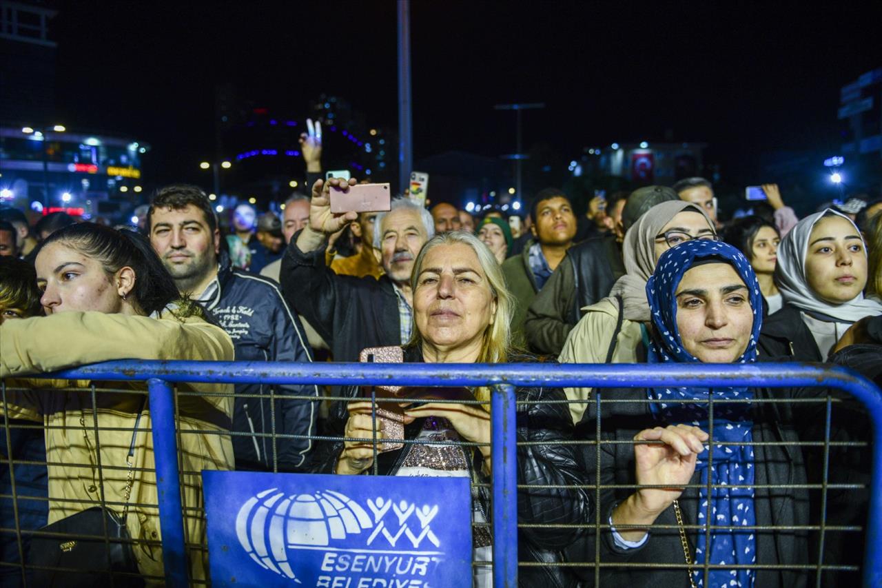
{"label": "blue banner with white globe logo reading ESENYURT on the barrier", "polygon": [[467,478],[203,471],[214,586],[471,585]]}

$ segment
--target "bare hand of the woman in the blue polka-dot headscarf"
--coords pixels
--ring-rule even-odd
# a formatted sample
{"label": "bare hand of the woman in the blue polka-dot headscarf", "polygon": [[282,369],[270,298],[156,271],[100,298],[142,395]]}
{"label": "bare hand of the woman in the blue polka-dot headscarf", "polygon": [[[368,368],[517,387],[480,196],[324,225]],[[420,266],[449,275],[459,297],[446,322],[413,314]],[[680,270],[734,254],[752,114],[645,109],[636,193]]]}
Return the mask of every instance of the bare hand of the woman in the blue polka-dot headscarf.
{"label": "bare hand of the woman in the blue polka-dot headscarf", "polygon": [[[613,524],[653,524],[683,494],[707,439],[707,433],[689,425],[656,426],[637,433],[634,441],[661,441],[634,445],[637,484],[663,487],[639,488],[613,511]],[[646,531],[621,529],[619,533],[624,539],[639,541]]]}

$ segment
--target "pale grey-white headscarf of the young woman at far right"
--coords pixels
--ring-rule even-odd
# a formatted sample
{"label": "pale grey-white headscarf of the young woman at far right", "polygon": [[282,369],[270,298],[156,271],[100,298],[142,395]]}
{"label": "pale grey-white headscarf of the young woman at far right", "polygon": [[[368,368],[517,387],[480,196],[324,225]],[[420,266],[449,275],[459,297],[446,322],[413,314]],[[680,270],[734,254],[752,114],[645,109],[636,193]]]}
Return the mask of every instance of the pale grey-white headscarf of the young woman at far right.
{"label": "pale grey-white headscarf of the young woman at far right", "polygon": [[[796,306],[796,308],[810,313],[820,313],[840,322],[855,322],[865,316],[882,314],[882,304],[863,298],[863,293],[858,293],[855,298],[841,305],[835,305],[818,297],[811,290],[805,276],[805,258],[809,252],[809,237],[811,230],[824,215],[837,215],[851,223],[855,232],[860,235],[855,223],[846,215],[831,208],[806,216],[802,221],[781,239],[778,245],[778,265],[774,270],[774,281],[781,290],[784,302]],[[863,242],[863,237],[862,237]],[[866,246],[863,255],[865,256]]]}

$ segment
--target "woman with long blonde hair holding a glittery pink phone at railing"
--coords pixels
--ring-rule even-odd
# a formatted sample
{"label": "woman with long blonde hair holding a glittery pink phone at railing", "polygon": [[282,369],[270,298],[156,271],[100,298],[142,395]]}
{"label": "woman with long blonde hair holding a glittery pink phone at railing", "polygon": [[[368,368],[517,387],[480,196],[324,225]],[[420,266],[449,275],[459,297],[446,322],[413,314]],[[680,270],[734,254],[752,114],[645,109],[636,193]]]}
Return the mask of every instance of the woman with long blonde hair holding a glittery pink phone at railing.
{"label": "woman with long blonde hair holding a glittery pink phone at railing", "polygon": [[[505,289],[502,270],[493,253],[474,235],[453,231],[438,235],[423,245],[411,276],[414,291],[414,333],[404,347],[404,360],[425,363],[504,363],[529,361],[512,351],[509,320],[512,297]],[[383,451],[377,456],[377,472],[391,476],[461,476],[470,477],[474,487],[473,522],[487,522],[489,491],[487,483],[493,464],[490,463],[490,391],[477,388],[466,391],[474,403],[411,403],[404,407],[404,439],[469,441],[477,447],[463,445],[425,445],[407,443],[401,449]],[[344,390],[344,396],[355,397],[358,388]],[[407,397],[407,389],[402,396]],[[425,397],[425,396],[423,396]],[[462,397],[462,396],[457,396]],[[561,401],[560,388],[519,388],[519,401]],[[378,408],[389,404],[379,404]],[[399,431],[387,426],[388,421],[371,416],[370,402],[339,403],[331,420],[335,433],[365,441],[333,442],[325,445],[324,459],[317,463],[320,471],[338,474],[370,473],[374,449],[370,440],[401,438]],[[377,429],[374,429],[374,422]],[[542,444],[519,445],[519,480],[543,486],[581,484],[577,452],[565,442],[572,439],[572,423],[564,403],[519,403],[518,441],[542,441]],[[383,449],[382,446],[377,450]],[[521,482],[525,483],[525,482]],[[520,523],[565,524],[582,520],[589,509],[587,494],[578,489],[531,489],[518,492]],[[482,532],[483,531],[483,532]],[[559,528],[525,529],[521,555],[536,561],[549,562],[553,554],[575,539],[578,530]],[[490,536],[482,527],[475,527],[473,547],[475,585],[490,586]],[[528,555],[525,555],[528,552]],[[522,569],[521,581],[528,585],[550,582],[564,585],[559,567]]]}

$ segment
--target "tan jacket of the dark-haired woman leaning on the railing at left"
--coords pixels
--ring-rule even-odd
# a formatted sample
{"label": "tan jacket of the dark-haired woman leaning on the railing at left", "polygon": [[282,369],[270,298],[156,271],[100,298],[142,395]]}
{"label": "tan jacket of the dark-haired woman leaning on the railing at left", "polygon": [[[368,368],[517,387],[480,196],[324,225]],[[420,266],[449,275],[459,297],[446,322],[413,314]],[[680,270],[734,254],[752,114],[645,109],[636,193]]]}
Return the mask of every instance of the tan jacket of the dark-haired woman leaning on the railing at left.
{"label": "tan jacket of the dark-haired woman leaning on the railing at left", "polygon": [[[157,320],[145,316],[71,312],[7,320],[0,326],[0,379],[7,379],[10,387],[6,388],[9,416],[41,421],[47,426],[49,523],[100,503],[102,479],[108,508],[122,512],[129,471],[126,457],[135,418],[146,397],[132,394],[132,390],[143,391],[146,385],[21,376],[123,358],[231,361],[234,350],[223,329],[195,317],[177,320],[170,313]],[[94,393],[97,411],[93,411],[90,384],[97,389]],[[233,392],[231,384],[178,384],[177,389],[204,395]],[[0,414],[3,408],[0,405]],[[206,524],[199,472],[234,467],[232,442],[221,428],[232,417],[233,399],[230,396],[178,396],[178,410],[185,541],[205,547]],[[148,406],[138,424],[126,523],[133,538],[158,542],[161,531],[151,426]],[[120,430],[109,430],[114,427]],[[195,430],[217,434],[188,434]],[[98,468],[99,456],[101,469]],[[163,575],[158,543],[138,543],[135,555],[143,574]],[[207,553],[191,549],[190,556],[192,577],[206,578]]]}

